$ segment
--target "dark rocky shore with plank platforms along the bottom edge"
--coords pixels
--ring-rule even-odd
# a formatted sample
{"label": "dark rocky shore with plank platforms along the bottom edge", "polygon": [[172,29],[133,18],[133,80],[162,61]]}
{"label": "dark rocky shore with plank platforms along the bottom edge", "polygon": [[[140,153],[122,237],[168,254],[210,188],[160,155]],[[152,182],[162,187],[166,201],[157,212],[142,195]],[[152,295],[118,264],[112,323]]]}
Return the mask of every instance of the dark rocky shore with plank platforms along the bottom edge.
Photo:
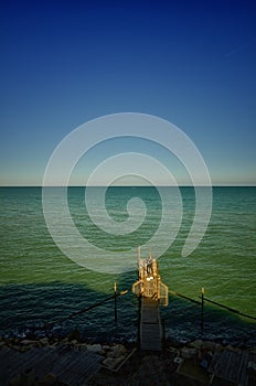
{"label": "dark rocky shore with plank platforms along the bottom edge", "polygon": [[231,382],[256,384],[255,349],[196,340],[167,341],[162,352],[141,352],[135,343],[87,343],[76,332],[64,339],[0,337],[3,386],[184,386]]}

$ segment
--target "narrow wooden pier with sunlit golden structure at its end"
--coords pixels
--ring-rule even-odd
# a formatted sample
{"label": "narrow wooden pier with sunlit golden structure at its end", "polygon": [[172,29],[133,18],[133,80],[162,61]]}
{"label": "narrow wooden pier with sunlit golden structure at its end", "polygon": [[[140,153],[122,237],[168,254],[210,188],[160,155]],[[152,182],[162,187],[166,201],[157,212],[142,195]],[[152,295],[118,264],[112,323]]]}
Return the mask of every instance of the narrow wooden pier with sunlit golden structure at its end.
{"label": "narrow wooden pier with sunlit golden structure at its end", "polygon": [[138,248],[138,280],[132,292],[139,297],[138,340],[141,350],[161,351],[163,329],[159,305],[168,305],[168,287],[161,281],[158,261],[149,255],[140,258]]}

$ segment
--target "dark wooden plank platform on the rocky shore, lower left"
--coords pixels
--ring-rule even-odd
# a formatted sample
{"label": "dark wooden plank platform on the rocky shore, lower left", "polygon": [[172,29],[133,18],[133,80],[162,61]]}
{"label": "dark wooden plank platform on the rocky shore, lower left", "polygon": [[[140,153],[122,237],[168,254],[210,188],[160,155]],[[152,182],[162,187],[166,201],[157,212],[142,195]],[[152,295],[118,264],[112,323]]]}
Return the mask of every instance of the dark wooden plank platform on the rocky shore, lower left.
{"label": "dark wooden plank platform on the rocky shore, lower left", "polygon": [[6,347],[0,351],[0,385],[23,373],[42,378],[55,374],[68,386],[85,385],[100,367],[103,357],[89,351],[62,350],[62,347],[31,349],[25,353]]}

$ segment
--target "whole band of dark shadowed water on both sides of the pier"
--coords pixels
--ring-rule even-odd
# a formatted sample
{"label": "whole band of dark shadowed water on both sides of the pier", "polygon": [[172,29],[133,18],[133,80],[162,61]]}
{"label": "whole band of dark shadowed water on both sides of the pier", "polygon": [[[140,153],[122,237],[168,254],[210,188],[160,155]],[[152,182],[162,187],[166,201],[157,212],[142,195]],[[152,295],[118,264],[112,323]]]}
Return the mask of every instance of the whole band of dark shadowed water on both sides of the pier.
{"label": "whole band of dark shadowed water on both sides of the pier", "polygon": [[[109,279],[109,278],[108,278]],[[0,288],[0,334],[22,336],[36,331],[65,336],[79,331],[84,340],[92,342],[128,341],[138,336],[138,299],[131,293],[137,272],[128,272],[115,278],[117,291],[128,293],[117,299],[117,324],[115,323],[114,298],[82,312],[114,296],[114,281],[105,291],[82,283],[25,283],[4,285]],[[98,277],[100,280],[100,277]],[[97,287],[97,283],[96,283]],[[211,304],[204,307],[204,329],[201,330],[201,307],[170,296],[169,305],[161,308],[167,339],[188,342],[205,339],[236,346],[256,346],[256,323],[239,318]]]}

